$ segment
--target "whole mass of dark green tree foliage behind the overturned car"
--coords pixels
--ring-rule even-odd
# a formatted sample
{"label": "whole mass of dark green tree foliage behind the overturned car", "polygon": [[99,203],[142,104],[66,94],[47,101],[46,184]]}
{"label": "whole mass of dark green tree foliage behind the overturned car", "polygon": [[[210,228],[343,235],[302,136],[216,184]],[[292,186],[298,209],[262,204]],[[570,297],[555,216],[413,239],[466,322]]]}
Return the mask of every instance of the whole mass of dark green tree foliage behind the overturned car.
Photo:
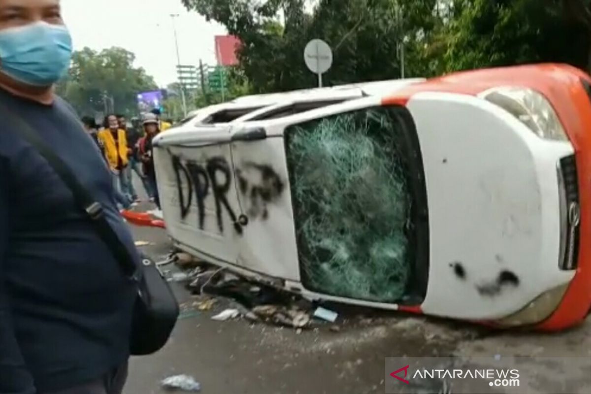
{"label": "whole mass of dark green tree foliage behind the overturned car", "polygon": [[337,84],[533,62],[591,69],[591,0],[183,0],[241,38],[255,92],[312,87],[303,49],[333,48]]}

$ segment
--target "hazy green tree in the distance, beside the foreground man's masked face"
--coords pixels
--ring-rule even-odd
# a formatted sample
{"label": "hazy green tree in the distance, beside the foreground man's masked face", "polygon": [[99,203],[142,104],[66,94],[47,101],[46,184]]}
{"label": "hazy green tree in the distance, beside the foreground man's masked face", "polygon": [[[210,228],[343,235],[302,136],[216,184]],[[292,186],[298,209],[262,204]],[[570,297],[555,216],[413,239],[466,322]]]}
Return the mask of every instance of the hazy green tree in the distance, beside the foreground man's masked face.
{"label": "hazy green tree in the distance, beside the foreground man's masked face", "polygon": [[135,56],[123,48],[96,52],[84,48],[73,54],[67,77],[57,92],[80,113],[108,111],[128,116],[137,112],[139,92],[158,89],[154,79],[141,67],[134,67]]}

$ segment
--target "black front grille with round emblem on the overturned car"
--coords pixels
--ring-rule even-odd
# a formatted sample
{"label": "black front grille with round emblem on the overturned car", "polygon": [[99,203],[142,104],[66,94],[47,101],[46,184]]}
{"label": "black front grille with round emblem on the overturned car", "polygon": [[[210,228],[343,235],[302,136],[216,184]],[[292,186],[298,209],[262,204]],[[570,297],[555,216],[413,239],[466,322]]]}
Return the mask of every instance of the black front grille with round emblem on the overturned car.
{"label": "black front grille with round emblem on the overturned car", "polygon": [[579,186],[574,155],[558,162],[558,192],[560,193],[560,269],[577,268],[579,255]]}

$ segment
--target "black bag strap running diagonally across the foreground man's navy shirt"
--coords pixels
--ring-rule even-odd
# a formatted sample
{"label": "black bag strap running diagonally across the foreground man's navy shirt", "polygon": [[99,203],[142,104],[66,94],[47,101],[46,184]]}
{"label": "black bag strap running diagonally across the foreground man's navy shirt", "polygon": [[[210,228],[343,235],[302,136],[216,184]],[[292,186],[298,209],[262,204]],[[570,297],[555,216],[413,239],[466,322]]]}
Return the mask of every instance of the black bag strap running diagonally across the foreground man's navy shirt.
{"label": "black bag strap running diagonally across the foreground man's navy shirt", "polygon": [[[54,103],[54,105],[60,105]],[[24,119],[14,113],[9,113],[4,105],[0,105],[0,118],[5,121],[12,122],[15,130],[20,132],[29,144],[33,145],[35,149],[46,159],[48,164],[56,171],[67,188],[70,189],[74,196],[74,201],[78,206],[85,211],[95,226],[96,232],[100,238],[105,242],[112,255],[121,266],[125,275],[132,276],[135,274],[137,266],[134,259],[131,258],[129,251],[119,239],[119,236],[111,227],[111,224],[105,217],[103,206],[92,197],[90,192],[80,183],[76,175],[70,170],[68,165],[56,154],[56,152],[41,138],[41,135],[35,131]]]}

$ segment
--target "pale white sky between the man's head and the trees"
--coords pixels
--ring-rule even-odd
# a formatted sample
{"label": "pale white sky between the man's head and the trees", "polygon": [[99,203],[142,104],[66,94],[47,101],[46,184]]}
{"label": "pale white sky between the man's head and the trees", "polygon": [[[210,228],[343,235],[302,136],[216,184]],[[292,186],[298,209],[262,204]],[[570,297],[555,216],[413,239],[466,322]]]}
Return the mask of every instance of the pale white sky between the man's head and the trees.
{"label": "pale white sky between the man's head and the trees", "polygon": [[134,66],[144,67],[160,87],[176,82],[176,25],[180,63],[215,64],[214,37],[226,34],[222,25],[189,12],[181,0],[61,0],[74,49],[122,47],[135,54]]}

